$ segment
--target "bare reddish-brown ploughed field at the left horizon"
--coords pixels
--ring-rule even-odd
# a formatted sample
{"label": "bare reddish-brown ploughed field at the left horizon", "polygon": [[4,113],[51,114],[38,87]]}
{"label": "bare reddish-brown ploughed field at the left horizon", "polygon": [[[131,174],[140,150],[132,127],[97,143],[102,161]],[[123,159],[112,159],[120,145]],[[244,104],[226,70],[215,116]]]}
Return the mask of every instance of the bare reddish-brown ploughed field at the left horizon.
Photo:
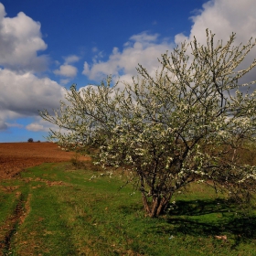
{"label": "bare reddish-brown ploughed field at the left horizon", "polygon": [[[53,143],[0,143],[0,180],[15,176],[25,168],[43,163],[69,162],[73,152],[62,151]],[[80,157],[80,160],[88,160]]]}

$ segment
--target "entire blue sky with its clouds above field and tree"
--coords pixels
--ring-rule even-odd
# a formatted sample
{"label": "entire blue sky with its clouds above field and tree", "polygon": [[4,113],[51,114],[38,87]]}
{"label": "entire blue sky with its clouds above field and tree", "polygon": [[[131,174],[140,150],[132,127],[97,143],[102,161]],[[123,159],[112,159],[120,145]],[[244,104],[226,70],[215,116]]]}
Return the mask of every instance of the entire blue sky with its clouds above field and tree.
{"label": "entire blue sky with its clouds above field and tree", "polygon": [[[44,141],[63,88],[131,80],[208,27],[219,39],[256,37],[255,0],[0,0],[0,142]],[[248,63],[254,59],[251,51]],[[246,64],[246,63],[245,63]],[[252,74],[250,79],[256,79]]]}

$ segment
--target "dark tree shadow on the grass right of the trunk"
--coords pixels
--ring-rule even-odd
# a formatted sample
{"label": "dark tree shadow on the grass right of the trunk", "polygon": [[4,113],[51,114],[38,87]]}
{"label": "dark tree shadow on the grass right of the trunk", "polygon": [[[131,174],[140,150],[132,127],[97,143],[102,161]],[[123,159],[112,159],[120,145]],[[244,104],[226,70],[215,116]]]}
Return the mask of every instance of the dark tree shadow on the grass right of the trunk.
{"label": "dark tree shadow on the grass right of the trunk", "polygon": [[172,234],[200,237],[232,234],[235,246],[256,239],[256,216],[225,199],[179,200],[166,221]]}

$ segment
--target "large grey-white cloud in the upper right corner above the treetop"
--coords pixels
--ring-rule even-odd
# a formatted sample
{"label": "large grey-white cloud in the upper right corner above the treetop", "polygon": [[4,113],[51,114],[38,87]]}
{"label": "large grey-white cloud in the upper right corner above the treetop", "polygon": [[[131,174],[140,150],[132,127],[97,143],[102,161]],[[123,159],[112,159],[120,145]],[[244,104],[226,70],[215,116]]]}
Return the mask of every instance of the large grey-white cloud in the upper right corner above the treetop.
{"label": "large grey-white cloud in the upper right corner above the treetop", "polygon": [[[252,37],[256,38],[256,1],[255,0],[211,0],[202,6],[197,16],[192,16],[194,22],[188,37],[178,34],[175,37],[176,44],[193,40],[201,44],[206,43],[206,29],[216,34],[216,41],[229,39],[232,32],[236,33],[235,44],[246,44]],[[249,55],[240,64],[239,69],[246,69],[256,57],[256,48],[252,48]],[[240,82],[256,80],[255,72],[251,71]]]}

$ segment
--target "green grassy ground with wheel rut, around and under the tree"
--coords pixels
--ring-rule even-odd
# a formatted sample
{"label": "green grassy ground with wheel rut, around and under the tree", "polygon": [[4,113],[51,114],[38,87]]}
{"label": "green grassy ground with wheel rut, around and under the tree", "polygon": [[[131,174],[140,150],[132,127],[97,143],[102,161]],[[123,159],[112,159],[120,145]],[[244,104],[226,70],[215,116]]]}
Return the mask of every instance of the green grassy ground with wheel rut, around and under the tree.
{"label": "green grassy ground with wheel rut, around and under the tree", "polygon": [[149,219],[138,192],[119,190],[121,176],[90,179],[100,173],[67,166],[40,165],[0,183],[0,225],[11,223],[0,255],[256,255],[255,201],[245,211],[194,184],[168,214]]}

